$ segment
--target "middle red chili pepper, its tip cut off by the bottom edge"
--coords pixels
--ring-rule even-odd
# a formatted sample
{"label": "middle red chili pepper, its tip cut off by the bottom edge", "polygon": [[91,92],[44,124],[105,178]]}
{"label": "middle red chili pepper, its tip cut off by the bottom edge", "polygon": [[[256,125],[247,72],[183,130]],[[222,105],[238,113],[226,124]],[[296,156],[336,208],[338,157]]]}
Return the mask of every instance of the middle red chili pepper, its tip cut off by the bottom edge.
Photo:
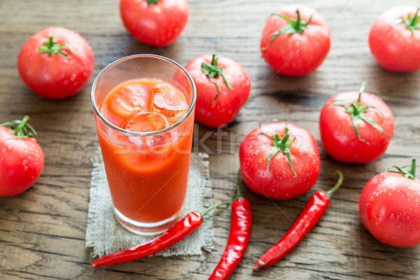
{"label": "middle red chili pepper, its tip cut off by the bottom edge", "polygon": [[230,221],[230,233],[225,252],[210,279],[227,279],[239,265],[246,248],[252,230],[251,202],[242,196],[239,188],[239,172],[237,174],[237,198],[232,202],[232,219]]}

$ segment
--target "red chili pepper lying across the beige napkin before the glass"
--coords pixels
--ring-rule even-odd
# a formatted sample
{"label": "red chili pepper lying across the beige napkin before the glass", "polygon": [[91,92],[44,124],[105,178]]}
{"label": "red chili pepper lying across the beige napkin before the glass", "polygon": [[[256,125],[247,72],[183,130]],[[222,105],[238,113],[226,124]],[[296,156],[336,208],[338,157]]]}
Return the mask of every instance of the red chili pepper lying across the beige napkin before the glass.
{"label": "red chili pepper lying across the beige napkin before the glass", "polygon": [[176,242],[181,241],[187,235],[190,235],[190,233],[197,230],[197,228],[200,228],[200,225],[203,223],[203,217],[209,213],[209,211],[215,209],[221,204],[225,204],[225,202],[214,204],[202,213],[191,211],[172,228],[169,228],[169,230],[167,230],[163,235],[160,235],[160,237],[156,237],[151,241],[134,246],[127,250],[105,255],[92,262],[92,265],[90,266],[103,267],[105,265],[114,265],[120,262],[130,262],[132,260],[137,260],[138,258],[144,258],[147,255],[158,253],[159,251],[174,245]]}

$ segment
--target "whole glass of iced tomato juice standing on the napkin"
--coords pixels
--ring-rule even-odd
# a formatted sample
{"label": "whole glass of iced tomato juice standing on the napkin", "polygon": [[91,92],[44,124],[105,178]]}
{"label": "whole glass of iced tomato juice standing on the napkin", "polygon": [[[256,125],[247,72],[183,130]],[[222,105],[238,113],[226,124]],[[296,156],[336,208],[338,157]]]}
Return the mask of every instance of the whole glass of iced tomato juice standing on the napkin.
{"label": "whole glass of iced tomato juice standing on the napkin", "polygon": [[98,74],[91,99],[116,220],[139,235],[165,231],[187,193],[193,78],[166,57],[132,55]]}

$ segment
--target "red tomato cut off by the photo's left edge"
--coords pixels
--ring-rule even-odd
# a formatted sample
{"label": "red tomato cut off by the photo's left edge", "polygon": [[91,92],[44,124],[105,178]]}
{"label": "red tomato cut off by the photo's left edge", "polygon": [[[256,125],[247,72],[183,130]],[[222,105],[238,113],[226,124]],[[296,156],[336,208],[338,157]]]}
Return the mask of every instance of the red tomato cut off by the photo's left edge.
{"label": "red tomato cut off by the photo's left edge", "polygon": [[41,175],[43,152],[32,138],[36,132],[27,120],[25,117],[0,126],[0,197],[25,192]]}

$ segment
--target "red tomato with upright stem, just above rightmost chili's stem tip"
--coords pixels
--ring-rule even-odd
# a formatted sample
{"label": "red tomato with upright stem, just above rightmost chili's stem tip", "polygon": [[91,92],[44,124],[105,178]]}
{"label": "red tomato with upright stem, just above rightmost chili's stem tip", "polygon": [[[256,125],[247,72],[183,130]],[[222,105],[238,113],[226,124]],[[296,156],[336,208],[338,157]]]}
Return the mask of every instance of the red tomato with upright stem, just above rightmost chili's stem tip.
{"label": "red tomato with upright stem, just above rightmost chili's stem tip", "polygon": [[363,90],[364,85],[360,88],[361,94],[337,94],[328,99],[321,110],[319,129],[322,144],[325,151],[336,160],[372,162],[385,153],[393,136],[394,120],[391,109],[379,97]]}

